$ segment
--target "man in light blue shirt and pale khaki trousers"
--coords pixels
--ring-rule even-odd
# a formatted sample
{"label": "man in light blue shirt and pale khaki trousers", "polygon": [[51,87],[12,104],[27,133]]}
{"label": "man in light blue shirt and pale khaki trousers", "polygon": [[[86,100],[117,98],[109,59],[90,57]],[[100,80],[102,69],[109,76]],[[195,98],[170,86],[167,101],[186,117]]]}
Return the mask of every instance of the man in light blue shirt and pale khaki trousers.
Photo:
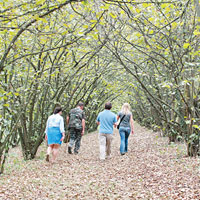
{"label": "man in light blue shirt and pale khaki trousers", "polygon": [[117,117],[111,112],[112,104],[107,102],[105,110],[100,112],[97,116],[97,124],[99,128],[99,146],[100,146],[100,160],[105,160],[106,156],[109,158],[111,154],[111,142],[113,139],[113,126],[116,126]]}

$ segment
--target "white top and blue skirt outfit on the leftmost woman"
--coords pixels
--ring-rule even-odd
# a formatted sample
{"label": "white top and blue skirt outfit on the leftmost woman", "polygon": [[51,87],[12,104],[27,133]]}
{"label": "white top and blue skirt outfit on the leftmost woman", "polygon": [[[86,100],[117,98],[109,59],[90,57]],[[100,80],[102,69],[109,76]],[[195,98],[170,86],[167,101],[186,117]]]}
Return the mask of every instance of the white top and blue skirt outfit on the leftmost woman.
{"label": "white top and blue skirt outfit on the leftmost woman", "polygon": [[47,120],[46,125],[47,142],[50,144],[61,144],[64,131],[64,120],[60,114],[53,114]]}

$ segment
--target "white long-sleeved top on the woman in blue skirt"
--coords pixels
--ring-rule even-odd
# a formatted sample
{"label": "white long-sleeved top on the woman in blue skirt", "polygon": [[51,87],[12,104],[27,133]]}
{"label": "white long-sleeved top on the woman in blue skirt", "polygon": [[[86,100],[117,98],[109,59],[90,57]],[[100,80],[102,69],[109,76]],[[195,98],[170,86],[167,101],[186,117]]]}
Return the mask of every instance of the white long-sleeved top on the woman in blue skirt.
{"label": "white long-sleeved top on the woman in blue skirt", "polygon": [[64,129],[63,117],[58,113],[49,116],[49,118],[47,120],[45,133],[47,133],[47,129],[50,128],[50,127],[59,127],[60,128],[60,132],[64,133],[65,129]]}

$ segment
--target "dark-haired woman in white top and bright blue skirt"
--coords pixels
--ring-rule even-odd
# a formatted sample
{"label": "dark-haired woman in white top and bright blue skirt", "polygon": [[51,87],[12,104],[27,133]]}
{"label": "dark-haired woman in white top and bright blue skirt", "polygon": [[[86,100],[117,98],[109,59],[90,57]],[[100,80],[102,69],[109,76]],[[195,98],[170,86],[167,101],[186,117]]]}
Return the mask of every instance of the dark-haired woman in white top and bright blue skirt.
{"label": "dark-haired woman in white top and bright blue skirt", "polygon": [[58,149],[65,138],[64,120],[62,108],[56,107],[53,115],[49,116],[46,124],[45,139],[47,140],[48,148],[46,161],[49,162],[49,156],[52,153],[52,162],[56,161]]}

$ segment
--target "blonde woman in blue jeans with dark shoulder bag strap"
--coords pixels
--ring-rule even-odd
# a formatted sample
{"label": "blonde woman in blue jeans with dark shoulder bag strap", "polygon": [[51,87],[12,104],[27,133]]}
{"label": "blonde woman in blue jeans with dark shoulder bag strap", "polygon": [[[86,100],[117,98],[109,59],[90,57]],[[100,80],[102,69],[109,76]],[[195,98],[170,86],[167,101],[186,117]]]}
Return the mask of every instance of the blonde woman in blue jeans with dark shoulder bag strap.
{"label": "blonde woman in blue jeans with dark shoulder bag strap", "polygon": [[128,137],[134,134],[133,130],[133,116],[130,111],[130,105],[124,103],[121,111],[117,115],[117,120],[120,119],[119,134],[121,137],[120,153],[124,155],[128,151]]}

